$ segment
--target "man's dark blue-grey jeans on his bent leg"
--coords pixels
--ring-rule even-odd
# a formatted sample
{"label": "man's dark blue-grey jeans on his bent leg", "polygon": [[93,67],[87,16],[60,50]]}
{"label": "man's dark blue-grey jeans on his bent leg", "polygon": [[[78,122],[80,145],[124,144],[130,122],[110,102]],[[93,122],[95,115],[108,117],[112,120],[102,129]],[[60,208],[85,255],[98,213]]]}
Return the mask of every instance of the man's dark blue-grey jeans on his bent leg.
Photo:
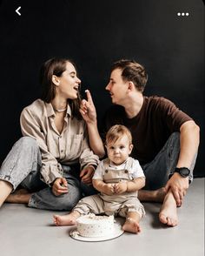
{"label": "man's dark blue-grey jeans on his bent leg", "polygon": [[[143,189],[155,190],[163,187],[168,182],[170,176],[175,172],[180,152],[180,133],[174,132],[169,137],[162,150],[155,156],[154,160],[146,165],[142,165],[146,177],[146,185]],[[188,179],[193,180],[193,170],[195,167],[195,158],[192,160],[189,170],[191,171]]]}

